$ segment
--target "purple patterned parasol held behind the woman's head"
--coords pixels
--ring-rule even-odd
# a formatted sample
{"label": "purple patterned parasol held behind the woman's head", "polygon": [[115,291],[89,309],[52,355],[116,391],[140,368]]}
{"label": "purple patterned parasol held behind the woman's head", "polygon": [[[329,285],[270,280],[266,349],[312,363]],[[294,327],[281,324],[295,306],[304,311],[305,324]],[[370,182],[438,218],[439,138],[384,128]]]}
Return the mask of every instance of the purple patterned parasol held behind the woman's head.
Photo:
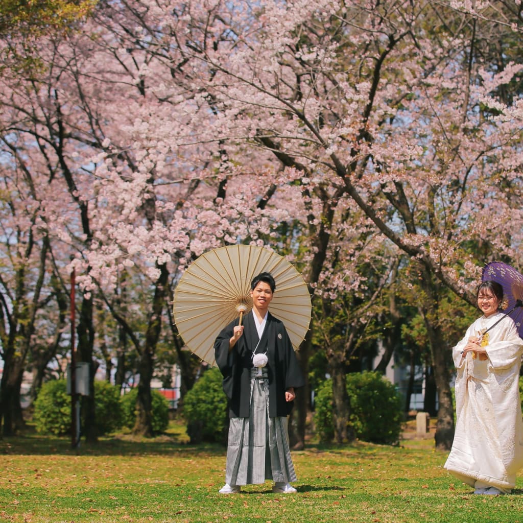
{"label": "purple patterned parasol held behind the woman's head", "polygon": [[523,275],[503,261],[491,261],[483,268],[481,279],[496,281],[503,287],[504,301],[508,302],[503,312],[514,320],[523,338]]}

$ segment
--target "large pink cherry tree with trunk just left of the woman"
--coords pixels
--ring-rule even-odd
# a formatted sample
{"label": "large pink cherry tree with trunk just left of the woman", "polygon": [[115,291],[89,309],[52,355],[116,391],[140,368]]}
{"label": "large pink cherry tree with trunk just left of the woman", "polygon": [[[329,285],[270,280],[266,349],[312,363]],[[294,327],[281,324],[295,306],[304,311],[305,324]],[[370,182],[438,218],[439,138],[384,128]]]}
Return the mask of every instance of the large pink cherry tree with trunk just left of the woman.
{"label": "large pink cherry tree with trunk just left of the woman", "polygon": [[[498,70],[476,53],[484,31],[504,23],[499,10],[490,2],[401,0],[132,5],[140,23],[127,27],[128,49],[151,57],[140,81],[164,107],[177,108],[165,117],[169,125],[164,112],[154,126],[163,143],[207,147],[226,179],[221,215],[235,201],[235,182],[245,181],[236,165],[269,162],[279,173],[271,202],[291,187],[303,204],[292,212],[323,219],[322,202],[332,210],[350,198],[377,234],[410,256],[439,390],[436,443],[448,448],[450,353],[435,320],[438,298],[448,287],[471,300],[467,284],[481,266],[471,237],[494,255],[518,259],[516,233],[506,231],[519,232],[520,128],[489,118],[484,105],[496,107],[492,93],[521,64]],[[519,23],[516,13],[509,29],[518,31]],[[135,124],[135,132],[150,128],[150,118]],[[500,178],[507,183],[496,184]],[[308,276],[316,286],[332,223],[307,223]]]}

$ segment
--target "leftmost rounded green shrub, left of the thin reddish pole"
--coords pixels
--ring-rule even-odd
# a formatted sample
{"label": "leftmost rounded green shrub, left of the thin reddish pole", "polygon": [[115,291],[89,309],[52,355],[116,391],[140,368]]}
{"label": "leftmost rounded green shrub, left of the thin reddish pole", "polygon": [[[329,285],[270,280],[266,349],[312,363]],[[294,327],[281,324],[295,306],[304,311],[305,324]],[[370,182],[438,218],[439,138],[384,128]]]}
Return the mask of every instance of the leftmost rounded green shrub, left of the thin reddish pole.
{"label": "leftmost rounded green shrub, left of the thin reddish pole", "polygon": [[34,421],[37,432],[63,436],[71,434],[71,396],[65,380],[47,381],[35,400]]}

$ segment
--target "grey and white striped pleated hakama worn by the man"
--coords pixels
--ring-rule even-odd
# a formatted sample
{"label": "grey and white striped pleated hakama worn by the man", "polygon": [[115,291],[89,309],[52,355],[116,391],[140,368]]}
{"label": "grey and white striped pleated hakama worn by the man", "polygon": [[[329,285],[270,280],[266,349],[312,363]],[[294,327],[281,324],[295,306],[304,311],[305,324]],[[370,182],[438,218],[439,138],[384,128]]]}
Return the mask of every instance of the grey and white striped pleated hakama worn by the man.
{"label": "grey and white striped pleated hakama worn by the man", "polygon": [[288,419],[269,417],[267,368],[251,370],[251,410],[248,418],[231,418],[225,482],[229,485],[291,483],[296,474],[289,449]]}

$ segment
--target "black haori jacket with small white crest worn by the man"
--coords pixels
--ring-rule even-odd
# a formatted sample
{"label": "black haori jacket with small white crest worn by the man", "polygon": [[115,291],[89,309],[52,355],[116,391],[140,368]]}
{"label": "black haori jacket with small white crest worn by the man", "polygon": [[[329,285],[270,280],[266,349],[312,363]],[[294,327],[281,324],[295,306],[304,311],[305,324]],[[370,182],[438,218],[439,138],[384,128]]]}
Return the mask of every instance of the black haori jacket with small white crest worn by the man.
{"label": "black haori jacket with small white crest worn by the man", "polygon": [[[249,417],[253,352],[258,344],[258,331],[253,313],[245,315],[243,335],[229,352],[229,340],[239,318],[223,328],[214,342],[214,356],[223,376],[223,390],[229,400],[229,416]],[[285,391],[305,384],[283,322],[269,312],[267,323],[256,350],[267,352],[269,378],[269,416],[287,416],[294,402],[285,401]]]}

